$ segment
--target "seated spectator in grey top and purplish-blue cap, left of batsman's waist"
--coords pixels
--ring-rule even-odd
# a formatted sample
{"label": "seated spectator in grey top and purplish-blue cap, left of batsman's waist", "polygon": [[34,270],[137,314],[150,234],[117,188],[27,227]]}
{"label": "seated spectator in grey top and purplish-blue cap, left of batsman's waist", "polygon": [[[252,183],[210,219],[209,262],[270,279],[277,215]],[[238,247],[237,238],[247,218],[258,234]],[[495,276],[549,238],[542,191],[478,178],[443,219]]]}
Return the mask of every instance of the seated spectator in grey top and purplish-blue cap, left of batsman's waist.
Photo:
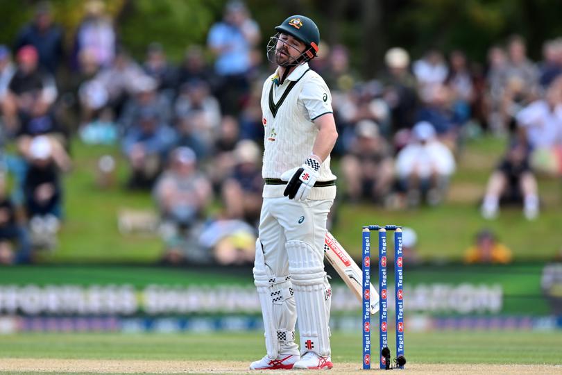
{"label": "seated spectator in grey top and purplish-blue cap, left of batsman's waist", "polygon": [[178,236],[194,235],[212,199],[210,181],[197,168],[197,158],[189,147],[171,151],[169,165],[157,179],[153,197],[162,219],[162,234],[169,257],[181,257]]}

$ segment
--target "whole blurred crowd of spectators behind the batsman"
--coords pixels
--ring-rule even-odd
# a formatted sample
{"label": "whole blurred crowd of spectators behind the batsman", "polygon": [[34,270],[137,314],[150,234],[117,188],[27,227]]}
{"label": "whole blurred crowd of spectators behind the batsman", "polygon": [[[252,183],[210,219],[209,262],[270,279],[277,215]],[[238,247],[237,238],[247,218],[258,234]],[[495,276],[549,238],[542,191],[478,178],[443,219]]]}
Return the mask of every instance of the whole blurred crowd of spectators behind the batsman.
{"label": "whole blurred crowd of spectators behind the batsman", "polygon": [[[103,1],[85,2],[83,12],[71,46],[49,3],[0,45],[0,263],[26,263],[33,249],[56,246],[73,137],[119,147],[129,166],[122,188],[153,196],[165,260],[251,262],[263,183],[259,97],[274,69],[263,59],[270,31],[230,1],[206,45],[186,41],[180,63],[167,58],[165,41],[135,60]],[[508,142],[489,171],[482,215],[493,219],[505,202],[536,219],[536,174],[562,174],[562,39],[546,41],[538,63],[518,35],[490,47],[486,62],[438,49],[411,60],[394,47],[384,63],[365,81],[346,47],[325,42],[311,63],[332,90],[339,201],[436,206],[463,142],[485,131]],[[114,160],[99,168],[110,175]],[[210,219],[216,202],[221,209]]]}

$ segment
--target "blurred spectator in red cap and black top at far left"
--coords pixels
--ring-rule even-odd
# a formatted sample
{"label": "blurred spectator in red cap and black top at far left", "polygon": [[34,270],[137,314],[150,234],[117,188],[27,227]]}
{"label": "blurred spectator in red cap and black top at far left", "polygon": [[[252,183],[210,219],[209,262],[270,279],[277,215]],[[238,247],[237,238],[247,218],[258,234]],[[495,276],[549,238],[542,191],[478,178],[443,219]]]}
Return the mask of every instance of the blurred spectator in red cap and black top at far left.
{"label": "blurred spectator in red cap and black top at far left", "polygon": [[2,103],[6,125],[12,132],[17,131],[19,122],[26,118],[46,114],[58,94],[53,76],[37,65],[35,47],[24,46],[16,56],[17,70]]}

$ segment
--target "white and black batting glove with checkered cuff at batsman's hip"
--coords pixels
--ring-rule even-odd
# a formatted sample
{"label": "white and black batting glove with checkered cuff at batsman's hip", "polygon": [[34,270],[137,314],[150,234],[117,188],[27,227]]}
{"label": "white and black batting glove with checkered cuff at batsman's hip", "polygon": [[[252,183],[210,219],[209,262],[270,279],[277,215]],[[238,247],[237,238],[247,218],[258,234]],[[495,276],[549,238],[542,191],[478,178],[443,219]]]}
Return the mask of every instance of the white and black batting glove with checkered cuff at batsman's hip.
{"label": "white and black batting glove with checkered cuff at batsman's hip", "polygon": [[318,169],[320,169],[318,160],[308,158],[300,167],[284,172],[281,179],[282,181],[288,181],[288,183],[283,195],[296,201],[307,199],[310,190],[316,183],[316,178],[318,178]]}

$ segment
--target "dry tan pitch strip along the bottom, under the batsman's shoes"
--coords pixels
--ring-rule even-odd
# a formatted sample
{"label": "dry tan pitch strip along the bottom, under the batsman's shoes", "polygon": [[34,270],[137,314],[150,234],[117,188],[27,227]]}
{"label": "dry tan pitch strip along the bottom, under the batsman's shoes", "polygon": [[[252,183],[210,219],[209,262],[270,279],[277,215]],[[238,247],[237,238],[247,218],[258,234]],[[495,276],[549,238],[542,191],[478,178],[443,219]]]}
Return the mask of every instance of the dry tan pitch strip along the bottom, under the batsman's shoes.
{"label": "dry tan pitch strip along the bottom, under the batsman's shoes", "polygon": [[[0,374],[45,372],[54,374],[273,374],[247,370],[248,363],[235,361],[196,360],[62,360],[3,358]],[[274,374],[298,374],[296,371],[276,371]],[[360,364],[338,363],[332,374],[361,374]],[[402,373],[402,372],[401,372]],[[408,364],[406,374],[562,374],[562,365],[444,365]]]}

